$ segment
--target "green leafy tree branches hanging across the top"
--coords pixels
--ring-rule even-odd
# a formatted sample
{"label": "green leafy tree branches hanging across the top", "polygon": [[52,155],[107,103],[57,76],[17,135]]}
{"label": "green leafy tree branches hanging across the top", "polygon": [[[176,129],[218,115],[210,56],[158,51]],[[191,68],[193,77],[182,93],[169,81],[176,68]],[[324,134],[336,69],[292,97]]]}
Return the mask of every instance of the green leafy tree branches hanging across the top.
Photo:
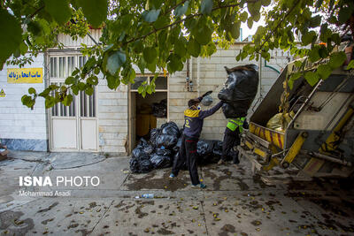
{"label": "green leafy tree branches hanging across the top", "polygon": [[[160,72],[181,71],[190,57],[209,57],[217,43],[225,48],[235,42],[241,23],[252,27],[261,14],[265,26],[258,27],[253,43],[237,60],[269,60],[269,50],[276,48],[311,62],[329,57],[317,71],[304,72],[311,84],[326,79],[345,60],[343,52],[333,51],[343,34],[354,32],[351,0],[5,0],[0,9],[0,66],[6,61],[24,65],[40,51],[62,47],[58,34],[77,39],[89,32],[89,26],[102,28],[96,46],[83,45],[82,53],[90,58],[65,85],[51,85],[40,93],[30,88],[22,97],[28,107],[38,96],[45,98],[47,108],[60,102],[69,105],[69,89],[74,95],[81,90],[92,94],[99,73],[109,88],[116,89],[121,83],[134,83],[133,65],[141,73],[155,73],[155,78]],[[350,62],[348,68],[353,65]],[[289,86],[301,75],[291,75]],[[139,88],[142,95],[154,90],[154,80]]]}

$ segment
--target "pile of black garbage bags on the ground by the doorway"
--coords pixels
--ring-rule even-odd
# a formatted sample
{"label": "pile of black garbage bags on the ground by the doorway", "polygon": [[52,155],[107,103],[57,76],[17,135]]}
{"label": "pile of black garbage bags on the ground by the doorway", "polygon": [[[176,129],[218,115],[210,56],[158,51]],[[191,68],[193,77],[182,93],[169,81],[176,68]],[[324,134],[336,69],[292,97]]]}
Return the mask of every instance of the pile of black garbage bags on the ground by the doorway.
{"label": "pile of black garbage bags on the ground by the doorway", "polygon": [[[130,171],[146,173],[173,165],[181,148],[182,130],[174,122],[150,131],[149,141],[142,138],[132,152]],[[200,140],[197,143],[198,164],[217,163],[221,157],[222,141]],[[182,169],[187,170],[187,164]]]}

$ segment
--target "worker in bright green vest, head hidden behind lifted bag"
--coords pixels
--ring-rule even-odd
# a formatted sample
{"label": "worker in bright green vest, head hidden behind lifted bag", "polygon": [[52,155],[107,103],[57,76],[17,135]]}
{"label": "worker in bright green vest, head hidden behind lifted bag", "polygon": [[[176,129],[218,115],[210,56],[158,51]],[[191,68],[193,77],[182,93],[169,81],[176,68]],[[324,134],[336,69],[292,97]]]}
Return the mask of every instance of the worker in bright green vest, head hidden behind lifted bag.
{"label": "worker in bright green vest, head hidden behind lifted bag", "polygon": [[240,145],[240,134],[243,128],[248,129],[246,118],[229,118],[227,128],[224,133],[224,141],[222,143],[222,156],[218,164],[225,164],[227,159],[232,156],[234,164],[239,164],[238,150],[234,147]]}

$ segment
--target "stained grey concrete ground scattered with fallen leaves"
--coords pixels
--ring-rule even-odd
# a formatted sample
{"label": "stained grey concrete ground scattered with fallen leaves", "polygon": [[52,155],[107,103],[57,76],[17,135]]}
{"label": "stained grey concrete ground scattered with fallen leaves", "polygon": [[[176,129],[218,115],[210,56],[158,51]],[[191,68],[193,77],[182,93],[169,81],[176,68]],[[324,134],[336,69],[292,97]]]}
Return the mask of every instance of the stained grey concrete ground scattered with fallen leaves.
{"label": "stained grey concrete ground scattered with fallen leaves", "polygon": [[[1,235],[354,235],[354,191],[337,181],[268,187],[242,159],[238,168],[201,167],[207,188],[200,190],[187,171],[176,180],[170,169],[134,174],[128,160],[12,151],[0,162]],[[19,176],[49,176],[53,186],[19,187]],[[100,184],[57,187],[63,176],[97,176]],[[155,198],[136,198],[142,194]]]}

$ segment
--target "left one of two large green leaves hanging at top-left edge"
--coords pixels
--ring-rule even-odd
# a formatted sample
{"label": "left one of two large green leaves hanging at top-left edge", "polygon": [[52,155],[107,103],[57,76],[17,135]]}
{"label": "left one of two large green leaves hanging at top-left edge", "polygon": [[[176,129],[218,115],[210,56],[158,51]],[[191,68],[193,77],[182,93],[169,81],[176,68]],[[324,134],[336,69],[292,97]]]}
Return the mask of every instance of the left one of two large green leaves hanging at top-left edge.
{"label": "left one of two large green leaves hanging at top-left edge", "polygon": [[68,0],[44,0],[44,5],[45,10],[59,25],[64,25],[72,16]]}

